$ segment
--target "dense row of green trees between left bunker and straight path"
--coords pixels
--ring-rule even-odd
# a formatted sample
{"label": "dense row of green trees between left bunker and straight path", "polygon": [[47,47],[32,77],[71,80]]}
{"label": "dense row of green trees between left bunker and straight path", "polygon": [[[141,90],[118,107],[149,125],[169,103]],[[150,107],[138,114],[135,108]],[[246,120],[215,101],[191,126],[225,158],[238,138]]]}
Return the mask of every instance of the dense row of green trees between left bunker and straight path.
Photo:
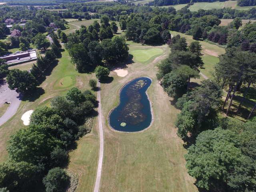
{"label": "dense row of green trees between left bunker and straight path", "polygon": [[5,192],[64,191],[70,176],[63,169],[74,143],[90,131],[86,121],[97,106],[96,96],[71,88],[38,107],[30,125],[11,136],[9,159],[0,164],[0,190]]}

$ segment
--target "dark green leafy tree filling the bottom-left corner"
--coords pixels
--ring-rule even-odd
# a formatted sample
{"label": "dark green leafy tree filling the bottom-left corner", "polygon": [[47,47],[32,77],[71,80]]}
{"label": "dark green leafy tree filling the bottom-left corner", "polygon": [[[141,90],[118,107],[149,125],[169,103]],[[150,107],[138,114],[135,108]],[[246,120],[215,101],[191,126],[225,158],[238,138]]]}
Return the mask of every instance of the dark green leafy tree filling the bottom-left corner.
{"label": "dark green leafy tree filling the bottom-left corner", "polygon": [[37,180],[38,168],[34,164],[24,161],[0,164],[0,188],[6,188],[10,192],[26,192],[33,189]]}

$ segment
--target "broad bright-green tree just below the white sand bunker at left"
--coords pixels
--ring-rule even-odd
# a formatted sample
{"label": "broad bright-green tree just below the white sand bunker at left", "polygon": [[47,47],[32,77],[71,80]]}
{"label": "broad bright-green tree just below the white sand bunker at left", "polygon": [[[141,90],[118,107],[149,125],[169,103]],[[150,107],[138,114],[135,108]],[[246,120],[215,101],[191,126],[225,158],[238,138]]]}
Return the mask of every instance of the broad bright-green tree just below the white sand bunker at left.
{"label": "broad bright-green tree just below the white sand bunker at left", "polygon": [[54,138],[44,126],[30,125],[11,136],[7,148],[9,156],[16,162],[50,165],[50,153],[61,141]]}

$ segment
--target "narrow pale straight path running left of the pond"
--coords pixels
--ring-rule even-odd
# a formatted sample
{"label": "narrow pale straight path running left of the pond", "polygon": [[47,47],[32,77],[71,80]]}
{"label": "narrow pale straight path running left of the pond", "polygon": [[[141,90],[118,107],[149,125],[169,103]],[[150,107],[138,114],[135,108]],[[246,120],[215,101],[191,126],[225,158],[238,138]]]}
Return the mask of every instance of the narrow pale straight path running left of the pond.
{"label": "narrow pale straight path running left of the pond", "polygon": [[[98,82],[98,88],[100,88],[100,82]],[[100,151],[99,151],[99,161],[98,161],[98,168],[96,174],[96,181],[94,185],[94,192],[100,191],[100,178],[102,172],[102,162],[103,162],[103,154],[104,154],[104,134],[102,128],[102,113],[101,113],[101,100],[100,100],[100,90],[98,90],[97,98],[99,102],[98,107],[98,124],[99,124],[99,137],[100,137]]]}

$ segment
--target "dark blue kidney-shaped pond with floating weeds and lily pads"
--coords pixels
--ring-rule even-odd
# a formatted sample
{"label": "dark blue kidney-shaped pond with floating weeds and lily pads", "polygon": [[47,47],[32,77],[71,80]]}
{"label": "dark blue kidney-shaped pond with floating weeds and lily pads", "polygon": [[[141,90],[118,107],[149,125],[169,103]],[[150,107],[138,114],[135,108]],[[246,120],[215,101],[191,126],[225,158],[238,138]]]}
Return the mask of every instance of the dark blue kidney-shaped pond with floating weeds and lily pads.
{"label": "dark blue kidney-shaped pond with floating weeds and lily pads", "polygon": [[110,126],[118,131],[137,132],[146,129],[152,121],[151,106],[146,91],[150,78],[136,78],[120,91],[120,103],[109,115]]}

